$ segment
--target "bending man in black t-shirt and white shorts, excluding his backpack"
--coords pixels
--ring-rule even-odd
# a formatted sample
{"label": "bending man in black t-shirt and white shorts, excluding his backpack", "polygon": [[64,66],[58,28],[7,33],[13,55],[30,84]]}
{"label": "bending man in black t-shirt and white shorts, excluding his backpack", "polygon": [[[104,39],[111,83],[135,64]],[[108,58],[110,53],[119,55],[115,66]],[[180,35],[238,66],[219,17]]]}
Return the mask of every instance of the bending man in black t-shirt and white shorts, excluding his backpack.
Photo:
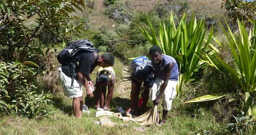
{"label": "bending man in black t-shirt and white shorts, excluding his backpack", "polygon": [[[59,80],[63,88],[64,95],[73,98],[72,106],[75,117],[82,117],[83,109],[83,90],[85,87],[87,95],[93,97],[93,93],[89,86],[93,88],[90,73],[96,66],[109,67],[113,66],[113,55],[104,53],[101,56],[94,52],[84,52],[74,58],[74,63],[62,64],[59,70]],[[78,64],[79,63],[79,64]],[[72,75],[75,73],[75,78],[72,82]],[[86,81],[87,80],[87,81]]]}

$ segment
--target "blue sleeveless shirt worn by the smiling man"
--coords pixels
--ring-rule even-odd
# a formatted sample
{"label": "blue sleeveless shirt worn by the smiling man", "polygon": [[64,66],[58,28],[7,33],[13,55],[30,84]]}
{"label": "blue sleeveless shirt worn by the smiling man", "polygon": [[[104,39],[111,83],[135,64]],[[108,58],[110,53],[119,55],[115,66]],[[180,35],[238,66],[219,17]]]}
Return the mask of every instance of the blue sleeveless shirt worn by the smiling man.
{"label": "blue sleeveless shirt worn by the smiling man", "polygon": [[176,60],[169,56],[169,55],[164,55],[162,54],[163,60],[161,62],[160,65],[153,65],[155,68],[155,73],[156,73],[156,77],[160,77],[161,79],[164,80],[165,77],[165,67],[170,64],[173,63],[173,68],[171,71],[171,75],[170,75],[170,79],[169,80],[173,80],[173,81],[178,81],[178,77],[179,77],[179,70],[178,70],[178,64],[176,62]]}

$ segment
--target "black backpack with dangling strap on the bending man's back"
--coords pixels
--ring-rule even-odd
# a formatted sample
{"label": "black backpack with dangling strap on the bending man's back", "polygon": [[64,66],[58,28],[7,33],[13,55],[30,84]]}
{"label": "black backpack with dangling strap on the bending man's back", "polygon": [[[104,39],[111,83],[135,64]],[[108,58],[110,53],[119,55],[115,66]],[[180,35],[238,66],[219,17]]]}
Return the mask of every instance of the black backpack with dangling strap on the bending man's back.
{"label": "black backpack with dangling strap on the bending man's back", "polygon": [[61,50],[57,56],[58,62],[60,64],[73,64],[72,68],[72,77],[71,77],[71,87],[74,84],[74,78],[76,78],[76,61],[74,58],[81,54],[86,52],[95,52],[98,53],[98,49],[93,47],[93,43],[91,43],[89,40],[75,40],[67,44],[66,48]]}

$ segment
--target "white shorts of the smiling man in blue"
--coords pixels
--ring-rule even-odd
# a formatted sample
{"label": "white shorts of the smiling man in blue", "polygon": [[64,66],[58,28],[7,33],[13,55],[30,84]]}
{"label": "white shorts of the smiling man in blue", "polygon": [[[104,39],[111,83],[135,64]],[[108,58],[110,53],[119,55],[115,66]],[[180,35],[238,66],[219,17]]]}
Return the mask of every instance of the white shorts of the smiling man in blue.
{"label": "white shorts of the smiling man in blue", "polygon": [[[149,97],[152,101],[154,101],[156,99],[156,97],[158,96],[158,94],[160,93],[160,87],[162,86],[162,84],[163,84],[163,80],[161,80],[161,78],[157,77],[154,82],[154,85],[149,90]],[[176,85],[177,85],[176,81],[169,80],[167,83],[167,86],[165,88],[165,91],[162,95],[162,97],[163,97],[162,106],[163,106],[163,109],[166,111],[171,110],[173,99],[177,93]]]}

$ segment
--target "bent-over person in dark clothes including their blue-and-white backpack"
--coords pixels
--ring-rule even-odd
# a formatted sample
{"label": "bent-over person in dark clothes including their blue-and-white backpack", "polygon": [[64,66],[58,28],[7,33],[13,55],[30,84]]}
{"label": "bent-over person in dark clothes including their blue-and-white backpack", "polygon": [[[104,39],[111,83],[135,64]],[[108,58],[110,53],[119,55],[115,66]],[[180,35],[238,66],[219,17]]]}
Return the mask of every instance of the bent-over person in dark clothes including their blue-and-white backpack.
{"label": "bent-over person in dark clothes including their blue-and-white backpack", "polygon": [[[132,90],[130,95],[130,107],[126,109],[126,113],[138,116],[138,104],[142,110],[145,110],[147,105],[148,91],[150,88],[150,82],[153,79],[154,68],[151,66],[151,61],[145,56],[135,58],[131,65],[134,67],[134,71],[131,76]],[[139,99],[142,83],[144,91],[141,93],[141,98]]]}

